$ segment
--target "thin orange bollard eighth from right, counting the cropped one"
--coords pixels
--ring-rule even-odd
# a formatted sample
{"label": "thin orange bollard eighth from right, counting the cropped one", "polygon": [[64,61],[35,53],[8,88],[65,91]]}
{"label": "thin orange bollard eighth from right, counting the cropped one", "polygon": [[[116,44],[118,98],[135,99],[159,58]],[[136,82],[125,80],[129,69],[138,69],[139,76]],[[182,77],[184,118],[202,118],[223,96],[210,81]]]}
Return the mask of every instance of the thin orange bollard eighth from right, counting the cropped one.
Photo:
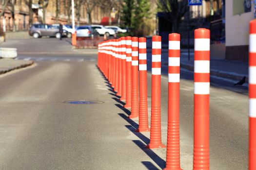
{"label": "thin orange bollard eighth from right, counting the cropped one", "polygon": [[121,37],[121,62],[122,62],[122,94],[120,100],[126,100],[126,38]]}

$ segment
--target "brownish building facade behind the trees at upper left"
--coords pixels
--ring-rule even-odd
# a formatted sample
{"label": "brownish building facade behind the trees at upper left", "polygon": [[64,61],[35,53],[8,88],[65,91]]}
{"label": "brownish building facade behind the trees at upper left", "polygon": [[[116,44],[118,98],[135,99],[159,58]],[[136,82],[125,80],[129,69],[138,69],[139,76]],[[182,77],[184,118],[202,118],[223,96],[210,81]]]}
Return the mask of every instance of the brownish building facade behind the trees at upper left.
{"label": "brownish building facade behind the trees at upper left", "polygon": [[[0,1],[1,2],[1,1]],[[4,11],[3,16],[0,17],[0,26],[2,27],[3,22],[6,25],[6,31],[26,31],[29,29],[29,6],[26,4],[27,0],[16,0],[14,5],[14,19],[12,17],[12,8],[11,5],[7,5],[7,8]],[[0,12],[2,9],[0,3]],[[56,8],[58,7],[59,13],[56,16]],[[70,12],[68,12],[70,10]],[[33,11],[33,23],[43,22],[43,10],[42,5],[39,3],[39,0],[32,1],[32,11]],[[77,14],[75,7],[75,15]],[[100,24],[101,19],[106,17],[107,14],[102,12],[99,7],[95,7],[92,11],[92,22],[95,24]],[[58,18],[57,18],[58,17]],[[67,24],[71,23],[71,6],[68,5],[68,0],[49,0],[46,13],[45,13],[45,23],[62,23]],[[88,14],[86,12],[85,5],[80,7],[80,21],[76,18],[76,24],[87,24],[89,21]],[[14,24],[15,23],[15,28]]]}

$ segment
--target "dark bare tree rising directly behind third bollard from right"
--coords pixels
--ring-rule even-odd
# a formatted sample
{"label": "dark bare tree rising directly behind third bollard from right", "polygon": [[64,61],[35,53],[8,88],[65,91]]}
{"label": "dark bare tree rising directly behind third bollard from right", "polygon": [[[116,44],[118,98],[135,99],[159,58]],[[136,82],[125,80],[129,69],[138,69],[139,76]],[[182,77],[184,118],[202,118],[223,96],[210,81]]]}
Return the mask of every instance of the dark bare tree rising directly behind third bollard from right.
{"label": "dark bare tree rising directly behind third bollard from right", "polygon": [[188,10],[188,0],[159,0],[158,6],[166,12],[166,18],[172,22],[172,31],[177,33],[181,18]]}

